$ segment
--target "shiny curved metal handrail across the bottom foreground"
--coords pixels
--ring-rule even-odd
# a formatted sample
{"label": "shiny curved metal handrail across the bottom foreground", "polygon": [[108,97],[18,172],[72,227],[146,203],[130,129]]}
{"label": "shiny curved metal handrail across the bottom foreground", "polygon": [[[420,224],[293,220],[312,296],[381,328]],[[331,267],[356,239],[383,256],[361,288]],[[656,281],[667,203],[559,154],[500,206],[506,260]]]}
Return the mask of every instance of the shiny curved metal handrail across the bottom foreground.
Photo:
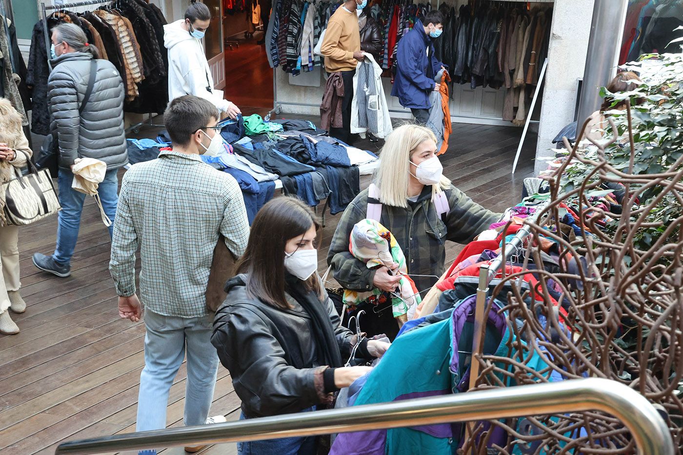
{"label": "shiny curved metal handrail across the bottom foreground", "polygon": [[602,411],[620,419],[630,430],[641,454],[673,454],[669,428],[654,406],[626,385],[601,378],[521,385],[329,411],[81,439],[59,444],[55,454],[85,455],[257,441],[579,411]]}

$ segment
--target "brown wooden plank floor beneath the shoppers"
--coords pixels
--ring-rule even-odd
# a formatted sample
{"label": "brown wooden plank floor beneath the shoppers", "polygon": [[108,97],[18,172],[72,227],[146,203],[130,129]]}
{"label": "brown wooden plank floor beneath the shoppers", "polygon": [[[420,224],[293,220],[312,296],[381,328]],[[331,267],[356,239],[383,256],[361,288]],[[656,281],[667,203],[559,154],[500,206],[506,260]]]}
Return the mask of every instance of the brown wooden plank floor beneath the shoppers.
{"label": "brown wooden plank floor beneath the shoppers", "polygon": [[[245,109],[246,110],[246,109]],[[294,117],[290,115],[290,118]],[[296,118],[317,120],[301,115]],[[156,131],[143,130],[141,137]],[[522,180],[533,174],[535,135],[527,139],[517,173],[512,160],[520,129],[455,124],[450,148],[442,157],[445,175],[476,202],[504,210],[520,199]],[[360,143],[376,151],[376,144]],[[120,176],[123,171],[120,172]],[[367,187],[369,177],[361,179]],[[339,215],[326,217],[320,266]],[[51,253],[57,219],[20,230],[19,249],[24,314],[12,315],[18,335],[0,335],[0,451],[7,454],[51,454],[65,439],[113,435],[135,430],[139,374],[144,366],[144,325],[120,320],[116,294],[107,270],[109,236],[92,198],[83,210],[81,232],[66,279],[41,273],[31,255]],[[460,246],[449,243],[447,261]],[[182,425],[186,370],[180,368],[171,388],[168,426]],[[222,366],[211,415],[239,416],[240,400]],[[218,445],[204,454],[232,454],[234,444]],[[182,454],[169,449],[165,454]]]}

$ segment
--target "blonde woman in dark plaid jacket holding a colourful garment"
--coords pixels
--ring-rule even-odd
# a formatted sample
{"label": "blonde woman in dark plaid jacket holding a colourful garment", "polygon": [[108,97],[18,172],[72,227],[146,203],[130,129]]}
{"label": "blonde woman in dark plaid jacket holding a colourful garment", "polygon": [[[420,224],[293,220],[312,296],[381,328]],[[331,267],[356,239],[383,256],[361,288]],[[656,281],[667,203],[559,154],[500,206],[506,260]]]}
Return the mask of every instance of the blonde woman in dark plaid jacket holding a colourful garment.
{"label": "blonde woman in dark plaid jacket holding a colourful garment", "polygon": [[[389,135],[373,182],[378,197],[371,197],[368,189],[357,195],[344,210],[327,254],[333,275],[344,288],[391,292],[400,279],[387,267],[367,268],[349,252],[349,235],[362,219],[378,218],[391,231],[406,256],[408,274],[423,297],[436,278],[421,275],[441,276],[445,271],[445,241],[467,243],[498,221],[500,214],[475,204],[443,176],[436,151],[434,133],[423,126],[400,126]],[[379,210],[377,205],[368,210],[369,199],[371,204],[380,204]],[[387,314],[389,322],[379,326],[393,339],[398,327],[391,310]],[[361,321],[364,331],[379,333],[376,325],[369,328],[373,323],[367,316],[363,318],[368,324],[363,327]]]}

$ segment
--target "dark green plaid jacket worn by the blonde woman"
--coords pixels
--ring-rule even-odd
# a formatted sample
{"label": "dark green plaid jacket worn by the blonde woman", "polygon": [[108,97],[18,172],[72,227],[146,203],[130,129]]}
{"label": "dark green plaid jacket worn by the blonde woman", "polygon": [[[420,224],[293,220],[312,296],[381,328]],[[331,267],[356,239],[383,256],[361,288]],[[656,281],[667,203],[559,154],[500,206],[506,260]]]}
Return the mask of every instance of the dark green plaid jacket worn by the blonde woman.
{"label": "dark green plaid jacket worn by the blonde woman", "polygon": [[[501,214],[486,210],[473,202],[465,193],[451,186],[445,191],[450,212],[444,223],[432,202],[432,187],[425,187],[417,202],[408,202],[408,208],[382,205],[380,223],[396,238],[406,256],[408,274],[437,275],[445,271],[446,240],[468,243],[477,234],[487,230]],[[367,189],[344,210],[332,238],[327,262],[332,265],[335,279],[348,290],[372,289],[374,269],[349,252],[349,236],[354,224],[367,215]],[[436,278],[411,276],[422,297],[434,286]]]}

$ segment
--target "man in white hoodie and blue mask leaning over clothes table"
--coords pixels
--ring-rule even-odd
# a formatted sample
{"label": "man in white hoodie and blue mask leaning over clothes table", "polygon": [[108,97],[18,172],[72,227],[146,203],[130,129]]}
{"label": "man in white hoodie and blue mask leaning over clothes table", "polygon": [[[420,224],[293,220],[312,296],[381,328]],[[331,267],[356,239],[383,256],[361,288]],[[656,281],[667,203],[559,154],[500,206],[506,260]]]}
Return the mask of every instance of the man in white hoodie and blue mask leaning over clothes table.
{"label": "man in white hoodie and blue mask leaning over clothes table", "polygon": [[212,102],[219,111],[236,118],[242,113],[234,103],[215,90],[201,38],[208,29],[211,12],[204,3],[192,0],[184,20],[164,25],[164,46],[169,51],[169,102],[184,95],[194,95]]}

